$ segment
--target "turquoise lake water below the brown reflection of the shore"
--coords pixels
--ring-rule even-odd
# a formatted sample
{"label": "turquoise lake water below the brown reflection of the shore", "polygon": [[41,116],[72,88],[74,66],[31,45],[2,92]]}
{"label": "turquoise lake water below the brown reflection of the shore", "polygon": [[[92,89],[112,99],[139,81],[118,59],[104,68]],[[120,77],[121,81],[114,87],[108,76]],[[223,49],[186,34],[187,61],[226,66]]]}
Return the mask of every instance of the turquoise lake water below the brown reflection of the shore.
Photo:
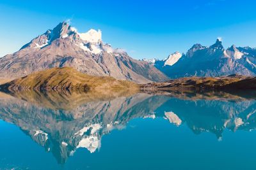
{"label": "turquoise lake water below the brown reflection of the shore", "polygon": [[0,106],[0,169],[256,168],[254,99],[136,94],[67,109],[10,97]]}

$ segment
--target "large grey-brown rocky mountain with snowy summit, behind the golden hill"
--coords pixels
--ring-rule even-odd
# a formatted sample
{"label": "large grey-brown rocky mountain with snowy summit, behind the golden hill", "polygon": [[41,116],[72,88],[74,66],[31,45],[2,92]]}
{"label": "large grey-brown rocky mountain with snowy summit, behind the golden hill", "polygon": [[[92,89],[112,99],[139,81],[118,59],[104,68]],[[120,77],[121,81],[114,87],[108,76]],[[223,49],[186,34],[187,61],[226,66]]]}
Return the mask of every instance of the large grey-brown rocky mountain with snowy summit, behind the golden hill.
{"label": "large grey-brown rocky mountain with snowy summit, behind the golden hill", "polygon": [[18,52],[0,59],[0,78],[19,78],[51,67],[74,67],[95,76],[113,76],[136,83],[168,78],[145,61],[132,59],[122,49],[102,42],[102,33],[79,33],[67,22],[32,39]]}

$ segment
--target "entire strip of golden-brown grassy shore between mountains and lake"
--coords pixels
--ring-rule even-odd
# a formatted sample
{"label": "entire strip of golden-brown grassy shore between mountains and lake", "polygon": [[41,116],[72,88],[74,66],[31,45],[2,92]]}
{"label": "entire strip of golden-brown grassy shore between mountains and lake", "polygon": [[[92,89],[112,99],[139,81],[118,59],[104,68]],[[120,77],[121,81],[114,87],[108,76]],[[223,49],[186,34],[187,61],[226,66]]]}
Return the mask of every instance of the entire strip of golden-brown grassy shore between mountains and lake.
{"label": "entire strip of golden-brown grassy shore between mountains and lake", "polygon": [[[230,75],[222,77],[189,77],[178,78],[161,83],[152,82],[136,84],[127,80],[116,80],[111,76],[91,76],[81,73],[72,67],[54,67],[38,71],[22,78],[3,83],[3,92],[19,92],[35,90],[44,91],[76,91],[76,92],[111,92],[129,91],[212,91],[212,90],[255,90],[256,78],[252,76]],[[91,93],[92,94],[92,93]]]}

